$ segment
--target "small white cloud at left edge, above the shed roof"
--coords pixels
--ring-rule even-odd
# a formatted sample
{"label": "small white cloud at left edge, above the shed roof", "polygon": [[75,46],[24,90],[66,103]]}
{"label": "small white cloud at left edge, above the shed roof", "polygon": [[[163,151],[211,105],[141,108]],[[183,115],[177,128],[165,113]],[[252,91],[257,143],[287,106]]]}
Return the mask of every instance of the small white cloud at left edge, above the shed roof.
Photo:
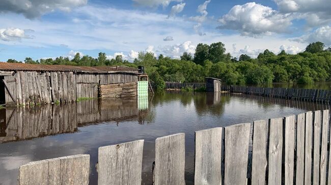
{"label": "small white cloud at left edge, above the shed roof", "polygon": [[12,27],[0,29],[0,40],[19,41],[21,39],[31,39],[31,37],[26,35],[23,29]]}

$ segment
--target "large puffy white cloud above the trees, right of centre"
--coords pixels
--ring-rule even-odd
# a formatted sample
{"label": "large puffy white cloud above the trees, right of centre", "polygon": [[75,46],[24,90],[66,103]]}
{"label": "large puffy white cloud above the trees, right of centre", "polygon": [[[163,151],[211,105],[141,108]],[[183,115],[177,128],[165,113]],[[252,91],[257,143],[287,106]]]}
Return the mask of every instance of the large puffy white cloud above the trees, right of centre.
{"label": "large puffy white cloud above the trees, right of centre", "polygon": [[238,30],[242,35],[261,36],[286,32],[291,17],[256,3],[234,6],[219,19],[219,29]]}

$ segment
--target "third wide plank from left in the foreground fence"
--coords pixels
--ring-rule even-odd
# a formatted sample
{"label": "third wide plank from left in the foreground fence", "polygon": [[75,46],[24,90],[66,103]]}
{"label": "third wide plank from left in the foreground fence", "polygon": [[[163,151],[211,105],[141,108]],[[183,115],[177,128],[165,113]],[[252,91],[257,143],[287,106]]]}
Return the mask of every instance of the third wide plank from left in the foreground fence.
{"label": "third wide plank from left in the foreground fence", "polygon": [[185,184],[185,134],[159,137],[155,141],[154,184]]}

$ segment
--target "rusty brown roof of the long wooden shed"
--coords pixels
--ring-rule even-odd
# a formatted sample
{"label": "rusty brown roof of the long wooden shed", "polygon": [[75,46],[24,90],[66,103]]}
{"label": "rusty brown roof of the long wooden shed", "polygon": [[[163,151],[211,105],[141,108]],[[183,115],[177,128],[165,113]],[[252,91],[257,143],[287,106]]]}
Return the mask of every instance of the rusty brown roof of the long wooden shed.
{"label": "rusty brown roof of the long wooden shed", "polygon": [[138,72],[138,69],[126,66],[74,66],[74,65],[44,65],[0,62],[0,70],[27,71],[64,71],[64,72]]}

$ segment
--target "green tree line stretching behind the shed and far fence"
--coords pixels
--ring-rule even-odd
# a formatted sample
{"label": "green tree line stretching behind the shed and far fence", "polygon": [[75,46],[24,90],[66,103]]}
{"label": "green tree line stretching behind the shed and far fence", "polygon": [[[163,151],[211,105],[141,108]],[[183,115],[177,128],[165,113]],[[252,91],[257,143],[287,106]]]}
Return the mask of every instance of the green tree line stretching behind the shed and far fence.
{"label": "green tree line stretching behind the shed and far fence", "polygon": [[[68,57],[40,61],[25,58],[24,62],[80,66],[142,65],[159,89],[164,87],[166,81],[204,82],[205,77],[222,79],[229,85],[273,82],[312,84],[331,80],[331,48],[324,48],[323,43],[316,42],[295,55],[287,54],[284,50],[279,54],[265,50],[257,58],[242,54],[237,59],[226,52],[223,43],[218,42],[211,45],[198,44],[194,55],[185,52],[180,59],[164,57],[162,54],[155,57],[154,53],[140,52],[133,62],[129,62],[121,55],[109,60],[105,53],[99,53],[98,58],[77,53],[71,60]],[[18,61],[9,59],[7,62]]]}

